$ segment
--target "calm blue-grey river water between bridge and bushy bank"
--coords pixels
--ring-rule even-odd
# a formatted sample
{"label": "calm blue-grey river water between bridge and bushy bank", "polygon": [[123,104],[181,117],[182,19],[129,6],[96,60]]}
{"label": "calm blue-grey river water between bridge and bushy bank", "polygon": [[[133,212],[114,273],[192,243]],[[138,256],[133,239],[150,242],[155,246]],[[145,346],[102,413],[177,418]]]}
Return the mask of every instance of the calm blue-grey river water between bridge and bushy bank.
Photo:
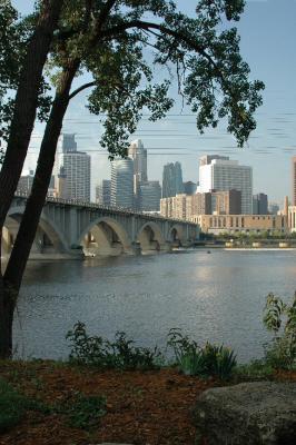
{"label": "calm blue-grey river water between bridge and bushy bank", "polygon": [[14,319],[21,357],[66,358],[77,320],[114,338],[164,346],[171,327],[200,343],[231,346],[240,362],[259,357],[269,291],[290,299],[296,251],[186,250],[168,255],[30,261]]}

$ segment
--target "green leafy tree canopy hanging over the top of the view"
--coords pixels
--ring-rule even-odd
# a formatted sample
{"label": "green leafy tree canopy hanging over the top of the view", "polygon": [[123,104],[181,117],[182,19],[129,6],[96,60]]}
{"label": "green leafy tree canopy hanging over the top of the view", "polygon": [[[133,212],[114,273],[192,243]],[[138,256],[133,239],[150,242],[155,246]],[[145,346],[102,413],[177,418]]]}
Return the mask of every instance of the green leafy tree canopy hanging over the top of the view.
{"label": "green leafy tree canopy hanging over the top of the view", "polygon": [[[2,138],[9,130],[19,67],[34,29],[39,9],[19,18],[9,0],[0,6],[0,121]],[[76,77],[88,72],[92,81],[82,83],[70,98],[92,87],[88,108],[103,115],[101,146],[110,157],[125,156],[130,134],[142,112],[150,120],[162,118],[174,106],[169,87],[178,82],[184,102],[196,113],[197,129],[216,127],[226,118],[228,131],[243,147],[256,128],[254,112],[262,103],[263,82],[249,81],[249,67],[239,55],[235,22],[244,0],[199,0],[189,18],[174,1],[165,0],[66,0],[39,97],[39,118],[50,110],[50,87],[57,95],[70,67]],[[152,51],[152,62],[147,60]],[[157,68],[167,68],[159,82]],[[162,70],[165,71],[165,70]]]}

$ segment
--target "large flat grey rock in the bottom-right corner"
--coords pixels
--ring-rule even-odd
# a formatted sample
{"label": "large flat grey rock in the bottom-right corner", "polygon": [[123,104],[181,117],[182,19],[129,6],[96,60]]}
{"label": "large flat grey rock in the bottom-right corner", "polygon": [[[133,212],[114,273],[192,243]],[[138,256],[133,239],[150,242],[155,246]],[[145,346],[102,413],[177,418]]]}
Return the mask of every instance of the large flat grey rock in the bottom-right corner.
{"label": "large flat grey rock in the bottom-right corner", "polygon": [[199,396],[194,416],[197,445],[295,445],[296,383],[208,389]]}

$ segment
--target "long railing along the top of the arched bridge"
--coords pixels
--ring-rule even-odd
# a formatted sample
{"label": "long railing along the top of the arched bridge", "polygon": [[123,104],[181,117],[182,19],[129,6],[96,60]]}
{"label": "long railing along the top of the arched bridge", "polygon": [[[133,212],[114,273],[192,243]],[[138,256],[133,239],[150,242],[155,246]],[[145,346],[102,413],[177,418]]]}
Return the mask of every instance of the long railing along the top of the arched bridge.
{"label": "long railing along the top of the arched bridge", "polygon": [[[16,198],[29,198],[29,194],[27,192],[21,192],[18,191],[14,195]],[[107,211],[112,211],[112,212],[117,212],[120,215],[135,215],[135,216],[140,216],[142,218],[146,219],[157,219],[157,220],[171,220],[171,221],[176,221],[178,224],[189,224],[190,226],[197,226],[196,222],[193,221],[187,221],[184,219],[178,219],[178,218],[167,218],[162,215],[148,215],[144,211],[139,211],[139,210],[135,210],[135,209],[130,209],[127,207],[119,207],[119,206],[102,206],[100,204],[97,202],[90,202],[90,201],[85,201],[81,199],[62,199],[62,198],[55,198],[51,196],[47,197],[47,202],[52,202],[52,204],[60,204],[60,205],[65,205],[65,206],[77,206],[77,207],[85,207],[85,208],[91,208],[91,209],[98,209],[98,210],[107,210]]]}

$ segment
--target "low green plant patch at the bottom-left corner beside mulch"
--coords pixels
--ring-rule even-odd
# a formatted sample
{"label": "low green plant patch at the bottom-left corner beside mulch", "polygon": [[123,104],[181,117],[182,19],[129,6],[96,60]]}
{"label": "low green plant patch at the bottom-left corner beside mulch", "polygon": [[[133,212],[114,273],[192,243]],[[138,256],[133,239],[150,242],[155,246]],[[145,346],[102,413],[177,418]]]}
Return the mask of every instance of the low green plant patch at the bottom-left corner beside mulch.
{"label": "low green plant patch at the bottom-left corner beside mulch", "polygon": [[16,392],[6,380],[0,378],[0,433],[4,433],[24,416],[27,399]]}

